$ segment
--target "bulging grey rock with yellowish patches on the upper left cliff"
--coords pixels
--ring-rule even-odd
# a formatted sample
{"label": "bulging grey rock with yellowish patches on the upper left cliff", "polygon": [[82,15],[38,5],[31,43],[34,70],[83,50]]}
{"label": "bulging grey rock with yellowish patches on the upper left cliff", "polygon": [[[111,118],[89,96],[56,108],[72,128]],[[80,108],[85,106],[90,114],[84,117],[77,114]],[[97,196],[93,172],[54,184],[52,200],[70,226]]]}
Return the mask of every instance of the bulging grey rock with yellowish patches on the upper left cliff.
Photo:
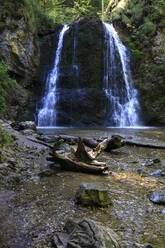
{"label": "bulging grey rock with yellowish patches on the upper left cliff", "polygon": [[0,32],[0,57],[9,65],[9,70],[16,78],[27,81],[34,75],[39,59],[36,35],[29,30],[23,16],[17,20],[15,30],[9,28],[13,21],[7,18]]}

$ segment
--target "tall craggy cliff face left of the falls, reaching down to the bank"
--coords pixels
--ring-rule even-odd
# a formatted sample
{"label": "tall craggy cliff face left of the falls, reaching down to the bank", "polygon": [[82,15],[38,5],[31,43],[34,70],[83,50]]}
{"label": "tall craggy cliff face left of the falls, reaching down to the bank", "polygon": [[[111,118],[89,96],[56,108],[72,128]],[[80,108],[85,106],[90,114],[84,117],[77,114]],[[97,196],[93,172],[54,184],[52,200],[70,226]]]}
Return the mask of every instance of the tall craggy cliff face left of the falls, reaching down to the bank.
{"label": "tall craggy cliff face left of the falls, reaching down to the bank", "polygon": [[33,12],[26,1],[1,3],[0,60],[8,65],[9,74],[18,87],[6,86],[6,113],[9,119],[27,119],[30,92],[33,92],[36,68],[39,64],[37,31],[32,22]]}

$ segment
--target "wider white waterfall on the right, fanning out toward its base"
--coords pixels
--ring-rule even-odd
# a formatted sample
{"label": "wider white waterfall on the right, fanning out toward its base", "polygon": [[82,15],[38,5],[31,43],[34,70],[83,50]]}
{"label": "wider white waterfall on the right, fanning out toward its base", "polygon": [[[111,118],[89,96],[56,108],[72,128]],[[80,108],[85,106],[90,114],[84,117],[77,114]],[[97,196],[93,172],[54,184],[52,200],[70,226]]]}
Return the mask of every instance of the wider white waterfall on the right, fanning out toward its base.
{"label": "wider white waterfall on the right, fanning out toward its base", "polygon": [[139,103],[133,88],[130,55],[112,24],[103,23],[105,31],[104,92],[106,95],[106,124],[138,126]]}

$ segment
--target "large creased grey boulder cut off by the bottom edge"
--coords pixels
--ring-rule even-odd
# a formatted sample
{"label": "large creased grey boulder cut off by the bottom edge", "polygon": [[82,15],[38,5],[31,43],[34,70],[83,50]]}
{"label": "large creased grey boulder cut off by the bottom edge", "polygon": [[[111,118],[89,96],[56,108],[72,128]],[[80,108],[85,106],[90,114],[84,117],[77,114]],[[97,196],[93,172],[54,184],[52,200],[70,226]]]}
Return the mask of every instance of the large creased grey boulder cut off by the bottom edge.
{"label": "large creased grey boulder cut off by the bottom edge", "polygon": [[119,248],[117,234],[101,224],[89,219],[79,222],[69,219],[66,222],[65,232],[53,238],[56,248]]}

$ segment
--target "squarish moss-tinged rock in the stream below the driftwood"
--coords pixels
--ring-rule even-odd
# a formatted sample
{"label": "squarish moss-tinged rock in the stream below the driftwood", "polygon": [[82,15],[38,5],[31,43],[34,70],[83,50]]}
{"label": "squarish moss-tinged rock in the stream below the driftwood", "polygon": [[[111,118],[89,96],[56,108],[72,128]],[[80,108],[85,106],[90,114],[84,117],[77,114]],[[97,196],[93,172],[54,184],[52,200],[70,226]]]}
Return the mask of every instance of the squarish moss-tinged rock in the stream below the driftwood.
{"label": "squarish moss-tinged rock in the stream below the driftwood", "polygon": [[76,201],[82,206],[109,207],[108,190],[101,183],[83,183],[76,192]]}

